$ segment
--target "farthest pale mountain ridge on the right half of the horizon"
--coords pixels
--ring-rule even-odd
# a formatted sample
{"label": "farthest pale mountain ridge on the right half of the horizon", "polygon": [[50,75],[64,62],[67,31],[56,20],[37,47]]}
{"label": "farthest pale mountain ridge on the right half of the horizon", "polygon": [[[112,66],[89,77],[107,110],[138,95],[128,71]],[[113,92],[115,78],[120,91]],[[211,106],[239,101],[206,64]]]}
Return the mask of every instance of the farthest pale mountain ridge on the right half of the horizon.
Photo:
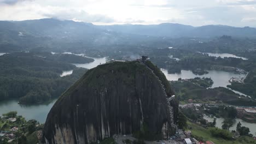
{"label": "farthest pale mountain ridge on the right half of the horizon", "polygon": [[256,28],[251,27],[231,27],[223,25],[207,25],[193,27],[178,23],[161,23],[159,25],[110,25],[100,26],[109,31],[150,35],[156,37],[190,37],[190,38],[211,38],[222,35],[232,37],[256,38]]}

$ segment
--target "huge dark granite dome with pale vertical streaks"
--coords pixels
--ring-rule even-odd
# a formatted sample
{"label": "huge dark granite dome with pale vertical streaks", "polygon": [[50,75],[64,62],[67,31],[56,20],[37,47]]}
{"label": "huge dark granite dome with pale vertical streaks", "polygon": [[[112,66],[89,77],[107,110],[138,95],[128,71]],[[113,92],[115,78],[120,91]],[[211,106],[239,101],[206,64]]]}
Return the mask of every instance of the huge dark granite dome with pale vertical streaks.
{"label": "huge dark granite dome with pale vertical streaks", "polygon": [[142,62],[98,65],[56,101],[41,141],[91,143],[132,134],[145,124],[152,134],[166,139],[176,130],[178,102],[172,95],[170,84],[162,84]]}

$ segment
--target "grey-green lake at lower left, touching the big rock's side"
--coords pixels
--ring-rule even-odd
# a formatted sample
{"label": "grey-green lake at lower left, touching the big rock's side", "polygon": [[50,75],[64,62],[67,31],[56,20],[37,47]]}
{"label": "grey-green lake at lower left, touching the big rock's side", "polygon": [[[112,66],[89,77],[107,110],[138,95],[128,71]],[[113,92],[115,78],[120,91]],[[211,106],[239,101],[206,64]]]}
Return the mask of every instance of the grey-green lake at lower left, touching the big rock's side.
{"label": "grey-green lake at lower left, touching the big rock's side", "polygon": [[36,119],[40,123],[45,123],[46,117],[56,100],[40,105],[19,105],[18,99],[0,101],[0,115],[2,116],[3,113],[9,111],[17,111],[18,115],[25,117],[26,120]]}

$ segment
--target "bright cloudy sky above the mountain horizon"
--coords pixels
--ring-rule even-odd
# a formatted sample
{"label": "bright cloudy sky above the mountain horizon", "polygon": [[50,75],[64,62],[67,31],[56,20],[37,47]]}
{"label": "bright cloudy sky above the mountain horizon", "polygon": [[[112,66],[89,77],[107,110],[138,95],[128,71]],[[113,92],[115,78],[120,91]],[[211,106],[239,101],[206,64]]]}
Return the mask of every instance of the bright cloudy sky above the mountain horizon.
{"label": "bright cloudy sky above the mountain horizon", "polygon": [[256,27],[256,0],[0,0],[0,20]]}

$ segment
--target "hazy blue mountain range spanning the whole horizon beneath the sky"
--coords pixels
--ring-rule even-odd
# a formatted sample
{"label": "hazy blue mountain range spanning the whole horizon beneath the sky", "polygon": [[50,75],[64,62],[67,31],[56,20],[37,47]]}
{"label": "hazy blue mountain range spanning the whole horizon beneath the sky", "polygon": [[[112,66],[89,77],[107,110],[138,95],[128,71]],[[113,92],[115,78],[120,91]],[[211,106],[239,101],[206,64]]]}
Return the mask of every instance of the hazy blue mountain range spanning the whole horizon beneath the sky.
{"label": "hazy blue mountain range spanning the whole horizon beneath the sky", "polygon": [[[0,21],[0,32],[5,30],[27,32],[35,36],[69,37],[86,36],[92,37],[102,32],[118,32],[125,34],[148,35],[154,37],[190,37],[211,38],[222,35],[232,37],[256,38],[256,28],[231,27],[223,25],[207,25],[193,27],[178,23],[161,23],[159,25],[107,25],[97,26],[92,23],[74,22],[70,20],[60,21],[56,19],[40,19],[26,21]],[[2,37],[2,34],[0,35]]]}

